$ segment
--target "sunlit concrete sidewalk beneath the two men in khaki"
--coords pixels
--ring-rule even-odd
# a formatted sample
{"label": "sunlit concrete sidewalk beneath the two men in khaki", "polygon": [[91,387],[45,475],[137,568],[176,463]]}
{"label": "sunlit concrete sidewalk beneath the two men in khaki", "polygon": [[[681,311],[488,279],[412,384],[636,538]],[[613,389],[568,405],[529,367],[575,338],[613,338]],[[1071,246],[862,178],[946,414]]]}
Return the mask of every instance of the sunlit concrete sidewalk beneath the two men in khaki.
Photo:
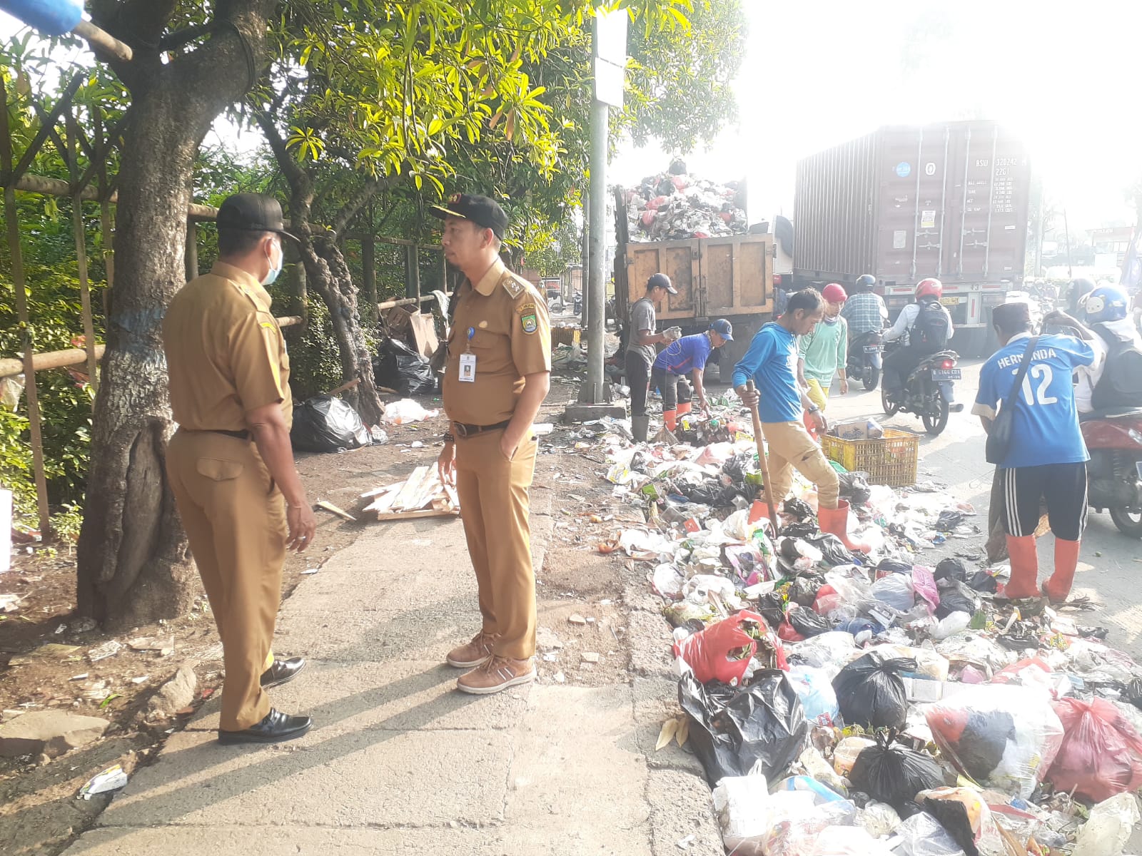
{"label": "sunlit concrete sidewalk beneath the two men in khaki", "polygon": [[723,853],[693,758],[649,756],[673,681],[464,695],[444,655],[477,620],[458,520],[367,528],[282,608],[275,649],[309,664],[273,701],[313,730],[219,746],[209,702],[67,856]]}

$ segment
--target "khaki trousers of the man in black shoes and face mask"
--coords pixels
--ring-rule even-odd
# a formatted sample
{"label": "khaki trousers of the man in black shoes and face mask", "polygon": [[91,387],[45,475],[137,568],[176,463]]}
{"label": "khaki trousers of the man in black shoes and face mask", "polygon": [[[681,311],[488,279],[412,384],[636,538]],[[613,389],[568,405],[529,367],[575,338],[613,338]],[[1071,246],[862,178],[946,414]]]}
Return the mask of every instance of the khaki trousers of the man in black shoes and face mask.
{"label": "khaki trousers of the man in black shoes and face mask", "polygon": [[286,501],[251,441],[178,430],[167,477],[222,637],[226,680],[219,727],[236,732],[270,712],[260,678],[286,560]]}

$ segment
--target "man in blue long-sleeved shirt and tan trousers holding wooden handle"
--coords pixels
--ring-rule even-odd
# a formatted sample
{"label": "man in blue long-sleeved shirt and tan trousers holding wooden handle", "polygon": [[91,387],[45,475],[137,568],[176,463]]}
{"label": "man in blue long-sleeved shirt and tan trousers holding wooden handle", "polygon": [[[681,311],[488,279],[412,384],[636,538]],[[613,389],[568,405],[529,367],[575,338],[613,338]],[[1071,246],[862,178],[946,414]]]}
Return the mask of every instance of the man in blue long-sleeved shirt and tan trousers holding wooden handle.
{"label": "man in blue long-sleeved shirt and tan trousers holding wooden handle", "polygon": [[[789,296],[786,310],[754,337],[746,356],[733,369],[733,388],[741,401],[757,405],[762,434],[769,444],[770,485],[773,501],[780,503],[793,484],[793,468],[817,485],[818,524],[844,542],[850,550],[868,552],[868,544],[849,538],[849,503],[839,499],[837,471],[826,459],[802,421],[803,411],[828,429],[821,409],[797,383],[797,337],[813,332],[825,316],[825,299],[815,289]],[[750,391],[746,382],[753,380]],[[774,528],[779,525],[773,520]]]}

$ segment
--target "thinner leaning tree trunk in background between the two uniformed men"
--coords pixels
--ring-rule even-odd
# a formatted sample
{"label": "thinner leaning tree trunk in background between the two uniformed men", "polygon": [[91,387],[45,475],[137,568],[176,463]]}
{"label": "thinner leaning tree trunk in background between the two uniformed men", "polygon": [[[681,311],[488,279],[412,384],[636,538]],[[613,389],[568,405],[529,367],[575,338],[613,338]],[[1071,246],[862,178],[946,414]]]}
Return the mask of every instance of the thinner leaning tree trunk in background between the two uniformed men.
{"label": "thinner leaning tree trunk in background between the two uniformed men", "polygon": [[343,395],[356,409],[361,421],[367,426],[379,425],[385,406],[377,394],[372,356],[357,314],[356,286],[345,257],[332,239],[311,235],[303,243],[301,259],[305,263],[306,283],[321,294],[329,309],[341,357],[341,382],[361,381]]}

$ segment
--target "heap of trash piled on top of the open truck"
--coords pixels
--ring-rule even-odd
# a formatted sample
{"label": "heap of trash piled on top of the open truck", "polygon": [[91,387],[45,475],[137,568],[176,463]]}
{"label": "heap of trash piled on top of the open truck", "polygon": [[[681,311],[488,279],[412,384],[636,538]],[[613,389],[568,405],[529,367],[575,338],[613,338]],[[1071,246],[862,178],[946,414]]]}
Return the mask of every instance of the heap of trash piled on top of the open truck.
{"label": "heap of trash piled on top of the open truck", "polygon": [[682,161],[644,178],[625,201],[630,241],[743,235],[749,227],[737,181],[719,185],[687,175]]}

